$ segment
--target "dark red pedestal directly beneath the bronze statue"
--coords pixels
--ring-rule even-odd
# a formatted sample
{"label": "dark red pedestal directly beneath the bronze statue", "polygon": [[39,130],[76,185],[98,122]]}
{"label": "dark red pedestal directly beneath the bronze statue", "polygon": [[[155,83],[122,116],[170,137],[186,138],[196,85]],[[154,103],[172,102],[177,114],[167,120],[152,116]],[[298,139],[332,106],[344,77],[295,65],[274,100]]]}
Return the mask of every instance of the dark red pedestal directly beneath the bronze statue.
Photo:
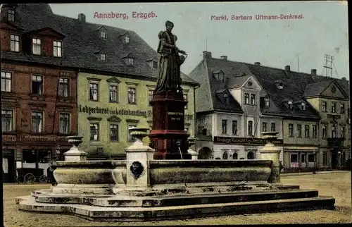
{"label": "dark red pedestal directly beneath the bronze statue", "polygon": [[155,149],[153,159],[191,159],[187,153],[189,134],[184,131],[187,102],[182,92],[156,92],[150,104],[153,106],[153,130],[149,134]]}

